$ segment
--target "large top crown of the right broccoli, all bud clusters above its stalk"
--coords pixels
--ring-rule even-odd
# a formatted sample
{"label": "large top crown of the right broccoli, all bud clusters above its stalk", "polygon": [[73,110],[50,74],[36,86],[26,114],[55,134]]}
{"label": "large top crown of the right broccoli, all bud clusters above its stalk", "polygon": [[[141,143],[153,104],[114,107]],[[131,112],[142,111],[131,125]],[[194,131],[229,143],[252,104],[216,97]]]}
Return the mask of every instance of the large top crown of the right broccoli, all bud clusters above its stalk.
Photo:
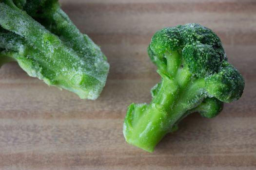
{"label": "large top crown of the right broccoli, all bud clusters above its stalk", "polygon": [[222,61],[226,60],[217,34],[199,24],[159,30],[152,37],[148,54],[158,69],[171,75],[176,73],[183,59],[183,64],[189,64],[189,71],[197,77],[218,72]]}

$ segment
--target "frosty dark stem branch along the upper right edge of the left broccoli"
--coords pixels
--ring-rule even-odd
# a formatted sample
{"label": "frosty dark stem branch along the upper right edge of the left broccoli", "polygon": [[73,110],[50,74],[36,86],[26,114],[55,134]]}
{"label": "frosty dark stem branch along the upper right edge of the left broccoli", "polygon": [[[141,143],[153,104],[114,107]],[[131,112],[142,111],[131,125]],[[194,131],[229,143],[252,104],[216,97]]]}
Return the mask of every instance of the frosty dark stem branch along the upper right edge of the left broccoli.
{"label": "frosty dark stem branch along the upper right edge of the left broccoli", "polygon": [[[27,13],[41,23],[47,30],[59,36],[62,42],[77,51],[78,55],[87,62],[101,61],[108,69],[105,55],[99,47],[86,35],[79,32],[69,17],[60,8],[59,2],[51,2],[51,5],[40,4],[35,0],[28,1],[23,7]],[[31,7],[33,7],[31,9]],[[100,57],[103,60],[97,60]]]}

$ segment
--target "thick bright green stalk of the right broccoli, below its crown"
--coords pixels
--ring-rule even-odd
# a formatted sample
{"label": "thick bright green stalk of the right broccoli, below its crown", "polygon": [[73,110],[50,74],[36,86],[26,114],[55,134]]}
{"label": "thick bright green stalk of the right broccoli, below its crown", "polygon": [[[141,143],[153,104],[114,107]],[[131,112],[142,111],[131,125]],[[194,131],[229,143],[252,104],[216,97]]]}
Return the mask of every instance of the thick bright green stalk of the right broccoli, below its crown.
{"label": "thick bright green stalk of the right broccoli, below its crown", "polygon": [[176,74],[182,74],[182,80],[176,74],[173,78],[158,70],[162,82],[152,102],[129,106],[123,132],[128,143],[153,152],[163,136],[177,129],[177,122],[189,114],[187,111],[205,98],[204,79],[191,80],[186,66],[177,68]]}

